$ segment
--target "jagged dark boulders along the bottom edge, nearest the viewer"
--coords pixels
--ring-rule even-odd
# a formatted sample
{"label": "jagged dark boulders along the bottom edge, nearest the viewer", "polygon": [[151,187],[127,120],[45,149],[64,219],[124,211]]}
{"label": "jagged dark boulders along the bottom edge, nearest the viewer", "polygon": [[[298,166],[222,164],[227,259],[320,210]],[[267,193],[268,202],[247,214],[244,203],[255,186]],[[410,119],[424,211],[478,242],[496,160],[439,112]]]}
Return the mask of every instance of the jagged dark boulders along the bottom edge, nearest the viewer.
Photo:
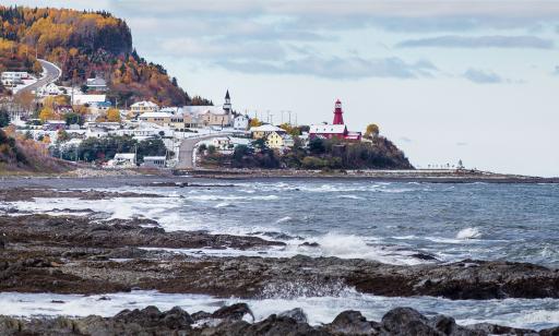
{"label": "jagged dark boulders along the bottom edge, nearest the viewer", "polygon": [[254,321],[245,303],[223,307],[213,313],[188,313],[179,307],[160,312],[155,307],[123,310],[112,317],[90,315],[72,317],[0,316],[2,335],[557,335],[559,328],[531,331],[493,324],[459,325],[445,315],[427,317],[412,308],[389,311],[380,322],[367,321],[358,311],[344,311],[331,323],[309,325],[305,312],[294,309]]}

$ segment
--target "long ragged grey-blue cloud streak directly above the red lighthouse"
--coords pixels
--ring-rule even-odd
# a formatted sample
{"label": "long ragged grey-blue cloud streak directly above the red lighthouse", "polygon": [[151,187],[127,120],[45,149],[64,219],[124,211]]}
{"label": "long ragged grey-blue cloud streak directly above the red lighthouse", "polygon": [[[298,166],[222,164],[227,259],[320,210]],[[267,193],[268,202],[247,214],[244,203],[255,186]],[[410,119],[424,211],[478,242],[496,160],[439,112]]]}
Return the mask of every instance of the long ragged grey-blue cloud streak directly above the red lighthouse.
{"label": "long ragged grey-blue cloud streak directly above the red lighthouse", "polygon": [[283,62],[223,61],[216,64],[245,73],[302,74],[338,80],[430,77],[437,72],[437,68],[429,61],[408,63],[396,57],[364,59],[309,56]]}

